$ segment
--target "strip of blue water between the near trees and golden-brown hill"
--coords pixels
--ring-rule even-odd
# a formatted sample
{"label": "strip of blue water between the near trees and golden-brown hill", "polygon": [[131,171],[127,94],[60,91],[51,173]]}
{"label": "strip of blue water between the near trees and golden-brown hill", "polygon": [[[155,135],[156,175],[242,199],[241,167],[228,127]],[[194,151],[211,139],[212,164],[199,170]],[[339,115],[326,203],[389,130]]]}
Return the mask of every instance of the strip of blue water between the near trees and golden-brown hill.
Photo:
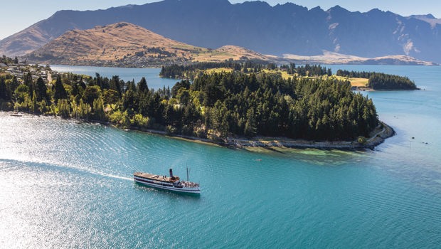
{"label": "strip of blue water between the near trees and golden-brown hill", "polygon": [[77,73],[81,75],[90,75],[95,77],[96,73],[100,73],[101,76],[112,78],[114,75],[118,75],[119,79],[124,81],[134,80],[138,83],[142,77],[146,78],[149,88],[162,88],[173,87],[176,81],[169,78],[159,77],[159,71],[161,68],[106,68],[106,67],[90,67],[82,65],[51,65],[52,70],[62,73]]}

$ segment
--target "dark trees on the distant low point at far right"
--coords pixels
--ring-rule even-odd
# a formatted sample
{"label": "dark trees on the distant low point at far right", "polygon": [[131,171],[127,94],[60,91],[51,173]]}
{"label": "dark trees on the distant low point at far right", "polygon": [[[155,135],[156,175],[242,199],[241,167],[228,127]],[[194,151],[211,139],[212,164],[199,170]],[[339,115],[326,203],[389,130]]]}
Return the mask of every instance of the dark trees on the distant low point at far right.
{"label": "dark trees on the distant low point at far right", "polygon": [[366,78],[368,88],[373,90],[416,90],[415,83],[407,77],[389,75],[376,72],[355,72],[348,70],[337,70],[338,76],[349,78]]}

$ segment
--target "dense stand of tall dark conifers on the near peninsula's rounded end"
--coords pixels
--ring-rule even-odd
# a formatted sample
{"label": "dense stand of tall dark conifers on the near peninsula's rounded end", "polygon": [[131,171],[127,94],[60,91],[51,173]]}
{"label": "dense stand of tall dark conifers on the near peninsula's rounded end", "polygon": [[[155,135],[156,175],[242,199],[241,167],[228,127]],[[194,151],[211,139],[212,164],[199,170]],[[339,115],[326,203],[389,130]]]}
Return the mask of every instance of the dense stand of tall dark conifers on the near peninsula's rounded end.
{"label": "dense stand of tall dark conifers on the near peninsula's rounded end", "polygon": [[191,90],[206,96],[206,124],[221,137],[353,139],[367,136],[378,122],[372,101],[336,80],[221,73],[197,78]]}

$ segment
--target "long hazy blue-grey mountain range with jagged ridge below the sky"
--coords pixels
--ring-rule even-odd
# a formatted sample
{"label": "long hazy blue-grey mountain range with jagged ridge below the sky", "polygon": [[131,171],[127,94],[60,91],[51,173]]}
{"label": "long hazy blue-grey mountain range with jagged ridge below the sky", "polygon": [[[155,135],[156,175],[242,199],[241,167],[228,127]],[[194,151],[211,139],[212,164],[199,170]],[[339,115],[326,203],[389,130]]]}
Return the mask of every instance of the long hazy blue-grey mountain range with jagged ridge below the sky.
{"label": "long hazy blue-grey mountain range with jagged ridge below the sky", "polygon": [[230,44],[279,56],[322,55],[322,51],[364,58],[408,55],[441,63],[437,21],[378,9],[361,13],[334,6],[324,11],[291,3],[270,6],[228,0],[164,0],[97,11],[58,11],[0,41],[0,54],[23,55],[66,31],[122,21],[203,48]]}

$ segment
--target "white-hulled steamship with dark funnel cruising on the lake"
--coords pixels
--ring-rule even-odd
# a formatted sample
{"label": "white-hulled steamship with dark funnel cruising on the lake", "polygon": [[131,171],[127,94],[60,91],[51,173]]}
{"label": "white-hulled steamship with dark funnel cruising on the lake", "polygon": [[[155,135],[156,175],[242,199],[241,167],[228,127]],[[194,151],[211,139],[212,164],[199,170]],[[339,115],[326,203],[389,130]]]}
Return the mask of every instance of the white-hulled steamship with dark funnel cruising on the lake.
{"label": "white-hulled steamship with dark funnel cruising on the lake", "polygon": [[133,179],[139,184],[152,186],[157,189],[166,189],[169,191],[176,191],[181,193],[201,194],[199,184],[188,181],[188,170],[187,181],[181,181],[181,179],[179,179],[179,176],[174,176],[172,169],[170,169],[169,171],[170,176],[159,176],[156,174],[135,172],[133,174]]}

